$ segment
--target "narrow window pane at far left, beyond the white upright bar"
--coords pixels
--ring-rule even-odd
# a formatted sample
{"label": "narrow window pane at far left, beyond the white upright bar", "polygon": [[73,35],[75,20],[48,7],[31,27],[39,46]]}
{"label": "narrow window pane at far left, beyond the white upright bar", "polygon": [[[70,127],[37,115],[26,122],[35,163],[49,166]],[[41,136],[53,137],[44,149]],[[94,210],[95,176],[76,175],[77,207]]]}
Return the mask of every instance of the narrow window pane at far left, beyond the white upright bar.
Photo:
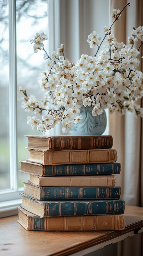
{"label": "narrow window pane at far left, beyond the white upright bar", "polygon": [[0,190],[10,188],[8,0],[0,1]]}

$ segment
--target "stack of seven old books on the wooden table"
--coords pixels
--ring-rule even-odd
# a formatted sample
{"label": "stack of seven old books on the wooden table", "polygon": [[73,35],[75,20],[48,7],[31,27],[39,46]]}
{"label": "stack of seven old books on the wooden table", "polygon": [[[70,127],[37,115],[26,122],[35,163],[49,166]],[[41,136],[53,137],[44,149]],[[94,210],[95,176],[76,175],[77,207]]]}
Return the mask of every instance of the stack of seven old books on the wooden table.
{"label": "stack of seven old books on the wooden table", "polygon": [[121,164],[112,136],[28,137],[29,159],[18,223],[26,230],[125,228],[124,200],[115,186]]}

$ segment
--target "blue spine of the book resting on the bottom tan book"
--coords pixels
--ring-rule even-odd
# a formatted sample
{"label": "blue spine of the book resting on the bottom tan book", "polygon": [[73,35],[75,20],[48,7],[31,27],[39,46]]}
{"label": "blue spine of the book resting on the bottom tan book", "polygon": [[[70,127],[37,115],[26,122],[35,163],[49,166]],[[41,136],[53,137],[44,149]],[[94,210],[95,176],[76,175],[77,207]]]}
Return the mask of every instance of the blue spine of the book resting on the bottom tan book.
{"label": "blue spine of the book resting on the bottom tan book", "polygon": [[114,201],[92,201],[92,202],[52,202],[43,203],[46,216],[74,216],[74,215],[102,215],[102,214],[123,214],[125,202]]}

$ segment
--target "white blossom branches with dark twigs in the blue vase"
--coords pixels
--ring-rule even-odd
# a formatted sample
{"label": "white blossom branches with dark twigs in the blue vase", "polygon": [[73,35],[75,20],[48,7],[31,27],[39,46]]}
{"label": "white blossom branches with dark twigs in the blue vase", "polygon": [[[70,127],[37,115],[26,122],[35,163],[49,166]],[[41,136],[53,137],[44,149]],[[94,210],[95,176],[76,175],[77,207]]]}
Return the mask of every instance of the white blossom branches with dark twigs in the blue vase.
{"label": "white blossom branches with dark twigs in the blue vase", "polygon": [[[130,6],[130,3],[125,7],[127,5]],[[122,11],[113,10],[114,22],[119,19]],[[137,70],[137,56],[143,45],[143,27],[133,28],[128,38],[129,45],[125,45],[117,42],[111,33],[114,22],[109,30],[104,27],[106,44],[98,57],[96,55],[104,39],[99,44],[101,38],[93,31],[87,42],[91,48],[97,45],[96,54],[82,54],[76,64],[64,56],[64,44],[49,57],[43,47],[47,37],[43,32],[36,33],[31,40],[34,43],[34,52],[42,49],[48,56],[46,71],[41,72],[38,80],[41,90],[45,92],[43,106],[39,105],[34,96],[28,95],[26,90],[21,87],[18,89],[23,93],[22,107],[33,113],[27,117],[27,124],[32,129],[44,134],[58,122],[62,122],[62,131],[66,133],[73,128],[74,123],[82,122],[82,107],[91,107],[92,116],[100,115],[108,108],[110,113],[125,114],[130,111],[143,117],[143,108],[135,102],[135,99],[143,96],[143,73]],[[133,48],[133,44],[138,40],[141,40],[141,44],[137,50]]]}

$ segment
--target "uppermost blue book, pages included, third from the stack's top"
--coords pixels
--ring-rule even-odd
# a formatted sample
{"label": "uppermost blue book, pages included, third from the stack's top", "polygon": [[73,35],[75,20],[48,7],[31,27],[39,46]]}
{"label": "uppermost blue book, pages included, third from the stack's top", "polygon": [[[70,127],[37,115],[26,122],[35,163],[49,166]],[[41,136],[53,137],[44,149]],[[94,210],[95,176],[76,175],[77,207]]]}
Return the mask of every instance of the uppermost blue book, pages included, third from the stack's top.
{"label": "uppermost blue book, pages included, third from the stack's top", "polygon": [[26,161],[20,162],[21,172],[40,176],[119,174],[121,171],[120,163],[42,165]]}

